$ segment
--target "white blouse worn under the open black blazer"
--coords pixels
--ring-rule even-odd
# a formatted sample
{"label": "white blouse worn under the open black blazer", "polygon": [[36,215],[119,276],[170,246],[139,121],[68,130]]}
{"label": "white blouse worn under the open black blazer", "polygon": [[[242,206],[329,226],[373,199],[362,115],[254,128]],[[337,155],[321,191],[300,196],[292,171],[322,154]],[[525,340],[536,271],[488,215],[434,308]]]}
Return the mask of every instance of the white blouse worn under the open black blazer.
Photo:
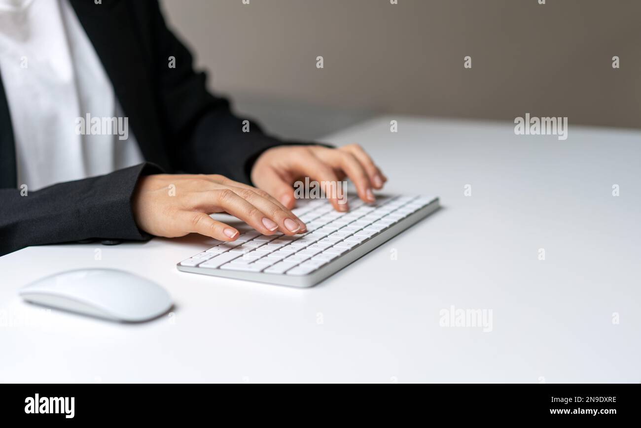
{"label": "white blouse worn under the open black blazer", "polygon": [[68,0],[0,0],[0,73],[18,186],[38,190],[143,161]]}

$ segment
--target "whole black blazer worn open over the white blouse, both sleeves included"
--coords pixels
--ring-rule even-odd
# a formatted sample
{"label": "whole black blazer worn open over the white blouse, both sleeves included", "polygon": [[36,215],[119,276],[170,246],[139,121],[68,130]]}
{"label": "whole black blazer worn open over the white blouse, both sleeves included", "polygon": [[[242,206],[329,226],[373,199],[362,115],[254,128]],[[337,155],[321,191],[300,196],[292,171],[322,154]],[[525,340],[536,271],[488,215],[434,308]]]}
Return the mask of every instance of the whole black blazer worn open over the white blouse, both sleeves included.
{"label": "whole black blazer worn open over the white blouse, both sleeves included", "polygon": [[[284,144],[242,121],[206,90],[204,73],[167,28],[157,0],[71,0],[147,161],[22,196],[12,122],[0,79],[0,255],[90,238],[144,240],[131,195],[141,174],[223,174],[249,183],[256,158]],[[176,67],[169,68],[173,56]],[[28,185],[28,183],[26,183]]]}

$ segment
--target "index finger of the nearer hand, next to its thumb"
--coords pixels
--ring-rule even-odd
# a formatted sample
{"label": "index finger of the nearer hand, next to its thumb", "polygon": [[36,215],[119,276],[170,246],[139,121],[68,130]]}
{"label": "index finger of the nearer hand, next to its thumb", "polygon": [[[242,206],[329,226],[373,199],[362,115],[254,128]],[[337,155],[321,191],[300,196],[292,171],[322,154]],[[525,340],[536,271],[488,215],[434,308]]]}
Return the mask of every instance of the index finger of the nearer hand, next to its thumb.
{"label": "index finger of the nearer hand, next to its thumb", "polygon": [[194,208],[201,210],[222,209],[240,218],[240,220],[243,220],[263,235],[273,235],[278,229],[278,224],[273,218],[270,218],[269,215],[263,213],[259,208],[250,204],[229,188],[194,192],[190,203]]}

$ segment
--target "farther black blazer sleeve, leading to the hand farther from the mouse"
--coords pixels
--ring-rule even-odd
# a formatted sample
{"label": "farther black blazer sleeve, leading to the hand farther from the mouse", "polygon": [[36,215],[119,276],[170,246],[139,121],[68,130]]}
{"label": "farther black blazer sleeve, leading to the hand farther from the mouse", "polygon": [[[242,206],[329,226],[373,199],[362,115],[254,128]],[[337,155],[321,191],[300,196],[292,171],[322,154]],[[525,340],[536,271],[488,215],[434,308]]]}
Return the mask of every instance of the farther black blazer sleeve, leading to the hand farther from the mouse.
{"label": "farther black blazer sleeve, leading to the hand farther from the mouse", "polygon": [[[157,1],[149,3],[156,93],[160,113],[172,135],[170,158],[174,169],[192,174],[222,174],[249,183],[260,154],[285,142],[263,132],[256,122],[231,112],[229,102],[206,88],[204,72],[195,72],[192,54],[167,28]],[[169,58],[175,58],[175,68]],[[240,67],[240,65],[239,65]],[[248,120],[249,132],[244,132]]]}

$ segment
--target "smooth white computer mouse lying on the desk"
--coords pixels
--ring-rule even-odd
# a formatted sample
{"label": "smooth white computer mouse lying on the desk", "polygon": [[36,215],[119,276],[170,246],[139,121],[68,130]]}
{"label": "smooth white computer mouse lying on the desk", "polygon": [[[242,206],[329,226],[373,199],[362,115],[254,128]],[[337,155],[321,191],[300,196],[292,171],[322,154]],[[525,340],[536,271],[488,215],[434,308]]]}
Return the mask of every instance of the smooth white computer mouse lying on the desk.
{"label": "smooth white computer mouse lying on the desk", "polygon": [[116,269],[60,272],[22,287],[28,302],[122,322],[151,320],[167,312],[167,291],[143,277]]}

